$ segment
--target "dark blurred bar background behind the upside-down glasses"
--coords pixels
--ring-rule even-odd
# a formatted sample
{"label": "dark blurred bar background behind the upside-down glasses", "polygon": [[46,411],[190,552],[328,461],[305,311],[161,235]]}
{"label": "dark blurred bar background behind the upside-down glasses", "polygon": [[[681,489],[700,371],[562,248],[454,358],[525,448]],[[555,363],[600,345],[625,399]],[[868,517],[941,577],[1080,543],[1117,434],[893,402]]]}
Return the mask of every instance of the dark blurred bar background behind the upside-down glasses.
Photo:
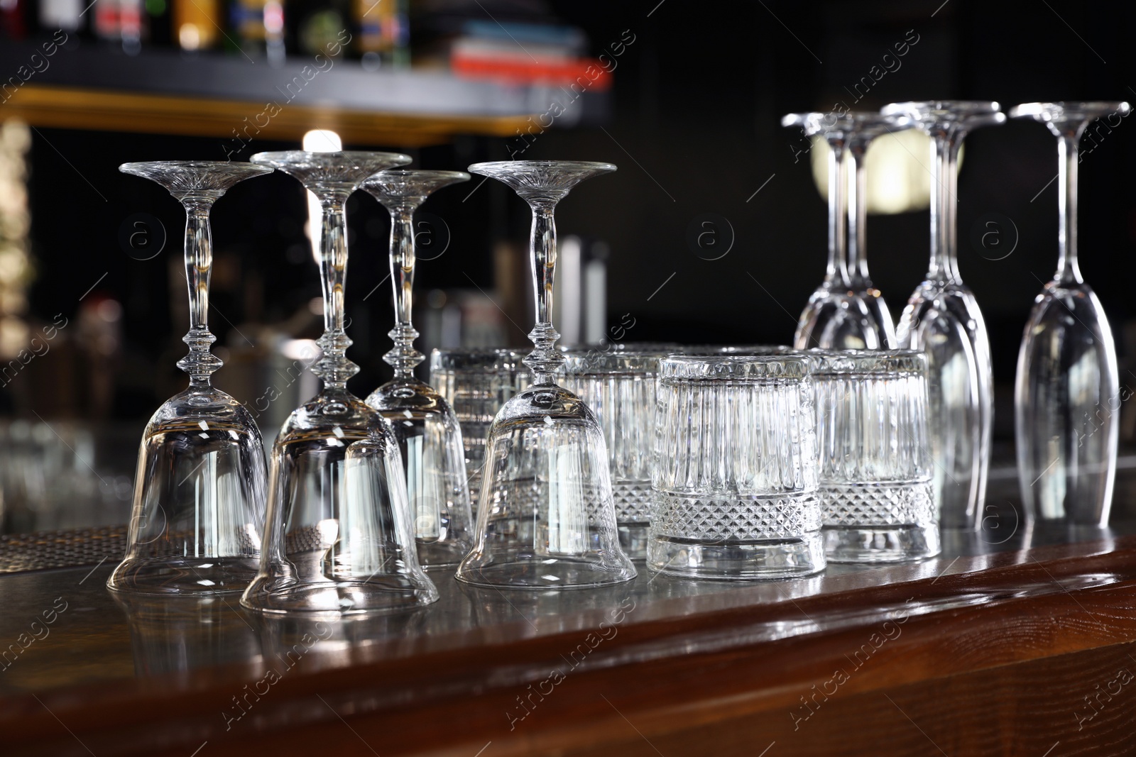
{"label": "dark blurred bar background behind the upside-down glasses", "polygon": [[[91,423],[93,436],[85,438],[100,462],[80,462],[99,476],[109,471],[128,478],[145,419],[184,386],[174,365],[185,352],[179,340],[186,328],[184,213],[161,187],[122,175],[117,166],[156,159],[224,160],[227,153],[248,159],[262,150],[300,146],[299,134],[257,135],[244,142],[224,131],[207,134],[208,128],[190,123],[178,129],[164,121],[159,133],[147,133],[137,124],[114,127],[101,110],[86,115],[82,104],[72,106],[66,120],[31,96],[36,85],[40,92],[75,86],[97,94],[139,90],[224,99],[229,90],[244,86],[242,76],[254,73],[270,79],[273,66],[310,60],[312,51],[326,50],[326,30],[343,23],[354,30],[354,47],[337,59],[339,70],[310,84],[306,107],[365,111],[369,95],[352,84],[359,79],[334,78],[340,75],[391,76],[392,87],[410,87],[414,94],[412,75],[424,73],[465,77],[469,86],[499,86],[499,95],[494,90],[483,95],[487,112],[501,118],[498,111],[509,108],[494,110],[501,98],[528,93],[527,102],[536,104],[513,108],[516,116],[544,110],[542,96],[571,92],[562,83],[533,90],[531,82],[520,81],[524,72],[502,74],[504,69],[487,64],[478,68],[460,58],[462,51],[496,45],[506,51],[502,60],[516,60],[519,52],[508,54],[513,43],[529,58],[526,44],[542,51],[560,44],[575,60],[605,60],[613,70],[602,84],[610,83],[610,89],[598,85],[586,92],[582,112],[554,119],[546,131],[535,129],[531,140],[506,136],[513,133],[512,124],[499,124],[493,134],[484,123],[467,128],[471,121],[451,118],[441,137],[426,138],[414,133],[415,127],[401,134],[376,129],[371,141],[345,133],[344,146],[408,152],[424,168],[463,169],[510,155],[617,163],[618,173],[579,186],[558,210],[561,238],[575,235],[579,243],[576,262],[561,270],[558,285],[575,293],[571,313],[586,311],[574,323],[558,327],[576,342],[610,337],[617,329],[620,338],[630,340],[742,344],[790,342],[796,317],[824,275],[826,204],[809,155],[799,152],[800,134],[779,126],[784,113],[827,111],[837,102],[877,109],[901,100],[972,99],[996,100],[1009,109],[1037,100],[1136,98],[1130,43],[1136,7],[1130,3],[383,1],[383,12],[393,8],[395,14],[384,22],[384,30],[394,30],[393,37],[374,43],[366,43],[376,33],[371,30],[367,36],[370,27],[366,19],[359,22],[366,11],[354,5],[241,0],[245,11],[267,7],[283,12],[283,26],[273,27],[269,20],[260,36],[234,20],[240,14],[210,5],[220,33],[209,33],[215,49],[204,50],[191,48],[208,47],[202,41],[209,35],[207,25],[201,22],[198,31],[185,32],[190,22],[178,10],[179,0],[131,6],[141,8],[136,23],[123,10],[130,5],[124,0],[117,32],[103,9],[110,0],[98,0],[67,32],[50,68],[2,91],[0,119],[9,119],[3,141],[8,154],[19,154],[22,135],[30,138],[24,155],[30,226],[20,242],[19,224],[12,221],[6,238],[16,242],[6,243],[8,256],[0,253],[0,283],[8,287],[0,300],[0,314],[7,319],[0,330],[5,361],[15,356],[20,339],[53,321],[57,327],[67,322],[49,352],[0,387],[9,434],[12,423],[17,436],[34,434],[34,424],[43,421],[81,429]],[[49,2],[55,16],[44,16]],[[5,5],[0,74],[15,74],[37,45],[42,49],[66,16],[62,6],[64,0],[17,0],[12,7],[23,9],[20,25]],[[270,17],[268,10],[265,18]],[[73,18],[76,10],[69,12],[67,18]],[[45,18],[55,23],[45,24]],[[99,18],[101,27],[94,23]],[[533,31],[541,25],[552,30],[545,37]],[[532,42],[513,39],[529,33],[535,35]],[[894,56],[894,45],[903,41],[911,44],[901,65],[872,79],[866,94],[861,86],[858,93],[863,96],[855,101],[857,83],[880,66],[885,54]],[[220,59],[227,68],[209,68],[208,76],[195,73]],[[168,77],[156,73],[166,70]],[[282,75],[281,81],[290,77]],[[23,89],[27,91],[18,91]],[[416,96],[425,98],[425,91],[423,84]],[[436,117],[445,120],[445,95],[438,96],[443,101],[436,103]],[[253,96],[233,99],[259,102]],[[350,102],[343,106],[337,99]],[[160,113],[139,117],[148,118]],[[31,126],[22,131],[12,119]],[[241,120],[234,120],[240,128]],[[1136,272],[1136,190],[1129,178],[1136,167],[1136,136],[1129,134],[1127,120],[1111,133],[1102,132],[1092,152],[1083,154],[1079,249],[1085,279],[1116,333],[1121,381],[1136,387],[1136,375],[1128,370],[1136,355],[1129,294]],[[59,127],[65,121],[67,128]],[[10,124],[15,126],[9,129]],[[1056,264],[1055,175],[1056,141],[1037,123],[1009,121],[967,140],[958,193],[959,259],[993,343],[995,434],[1003,443],[1012,439],[1012,382],[1022,327]],[[0,205],[15,208],[17,215],[19,185],[16,179],[5,184],[0,197]],[[435,245],[417,270],[416,326],[424,333],[424,352],[462,343],[526,344],[532,323],[527,207],[503,185],[483,185],[475,177],[441,191],[423,210],[433,220],[421,242]],[[715,260],[688,244],[688,229],[707,213],[726,219],[733,233],[729,252]],[[1002,250],[1013,250],[997,260],[989,250],[976,249],[971,235],[994,213],[1011,222],[1000,221],[1006,243]],[[390,375],[382,360],[393,321],[385,280],[389,222],[385,211],[364,193],[351,199],[348,217],[346,312],[354,339],[349,355],[361,367],[351,387],[365,396]],[[139,219],[142,226],[135,225]],[[279,174],[236,186],[215,208],[210,327],[218,337],[217,352],[226,359],[216,382],[244,402],[262,392],[266,373],[294,361],[304,340],[321,330],[307,222],[303,190]],[[144,234],[132,241],[135,230]],[[165,249],[153,254],[162,230]],[[11,253],[16,249],[26,252],[24,268]],[[870,217],[871,271],[893,316],[920,280],[928,249],[926,209]],[[605,285],[587,285],[584,271],[602,274]],[[598,292],[602,302],[596,302]],[[289,410],[281,409],[284,414]],[[281,420],[283,415],[272,413],[261,419],[266,437]],[[26,428],[20,424],[25,421]],[[73,447],[78,443],[56,432],[64,426],[52,426],[52,434]],[[106,429],[120,431],[115,436]],[[45,431],[40,434],[50,440]],[[1122,435],[1130,437],[1127,420]]]}

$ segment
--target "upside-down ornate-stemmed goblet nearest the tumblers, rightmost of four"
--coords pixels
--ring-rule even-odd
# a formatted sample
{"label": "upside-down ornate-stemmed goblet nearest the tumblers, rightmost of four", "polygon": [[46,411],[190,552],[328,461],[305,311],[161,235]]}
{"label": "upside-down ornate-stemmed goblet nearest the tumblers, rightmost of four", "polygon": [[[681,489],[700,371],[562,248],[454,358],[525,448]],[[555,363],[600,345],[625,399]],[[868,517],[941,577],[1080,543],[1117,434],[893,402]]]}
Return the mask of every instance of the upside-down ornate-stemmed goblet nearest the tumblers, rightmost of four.
{"label": "upside-down ornate-stemmed goblet nearest the tumblers, rightmost of four", "polygon": [[578,589],[635,578],[619,547],[608,451],[595,413],[556,385],[565,361],[556,348],[552,285],[557,203],[611,163],[513,160],[475,163],[471,174],[508,184],[533,211],[531,235],[536,326],[527,389],[490,427],[477,508],[476,545],[458,567],[475,586]]}

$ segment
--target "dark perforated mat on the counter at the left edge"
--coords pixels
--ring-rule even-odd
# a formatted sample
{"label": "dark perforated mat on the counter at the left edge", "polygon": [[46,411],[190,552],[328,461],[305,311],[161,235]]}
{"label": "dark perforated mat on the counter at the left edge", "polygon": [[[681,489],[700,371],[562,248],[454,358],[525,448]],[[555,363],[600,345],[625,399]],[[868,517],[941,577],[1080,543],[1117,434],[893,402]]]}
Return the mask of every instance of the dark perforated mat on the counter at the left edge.
{"label": "dark perforated mat on the counter at the left edge", "polygon": [[0,536],[0,573],[117,563],[124,554],[125,525]]}

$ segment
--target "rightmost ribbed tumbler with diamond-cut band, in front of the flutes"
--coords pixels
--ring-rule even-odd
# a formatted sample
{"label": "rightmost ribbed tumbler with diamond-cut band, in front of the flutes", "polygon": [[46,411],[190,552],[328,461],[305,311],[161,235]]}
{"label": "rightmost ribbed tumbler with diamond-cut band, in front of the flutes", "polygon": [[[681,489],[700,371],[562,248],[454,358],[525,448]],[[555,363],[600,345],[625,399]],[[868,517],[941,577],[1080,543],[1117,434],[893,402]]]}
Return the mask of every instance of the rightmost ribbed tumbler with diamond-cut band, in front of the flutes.
{"label": "rightmost ribbed tumbler with diamond-cut band, in front of the flutes", "polygon": [[811,351],[825,553],[891,563],[939,553],[927,355]]}

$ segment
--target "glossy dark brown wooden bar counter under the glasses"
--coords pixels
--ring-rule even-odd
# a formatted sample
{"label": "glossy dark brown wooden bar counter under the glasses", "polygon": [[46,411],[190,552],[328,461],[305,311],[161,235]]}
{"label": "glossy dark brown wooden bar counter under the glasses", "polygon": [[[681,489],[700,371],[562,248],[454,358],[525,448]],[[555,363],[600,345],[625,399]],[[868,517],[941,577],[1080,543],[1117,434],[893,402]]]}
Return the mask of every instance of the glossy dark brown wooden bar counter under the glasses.
{"label": "glossy dark brown wooden bar counter under the glasses", "polygon": [[350,621],[124,602],[114,560],[8,573],[0,755],[1136,754],[1136,529],[1070,542],[1011,511],[919,564],[563,592],[434,573],[435,605]]}

